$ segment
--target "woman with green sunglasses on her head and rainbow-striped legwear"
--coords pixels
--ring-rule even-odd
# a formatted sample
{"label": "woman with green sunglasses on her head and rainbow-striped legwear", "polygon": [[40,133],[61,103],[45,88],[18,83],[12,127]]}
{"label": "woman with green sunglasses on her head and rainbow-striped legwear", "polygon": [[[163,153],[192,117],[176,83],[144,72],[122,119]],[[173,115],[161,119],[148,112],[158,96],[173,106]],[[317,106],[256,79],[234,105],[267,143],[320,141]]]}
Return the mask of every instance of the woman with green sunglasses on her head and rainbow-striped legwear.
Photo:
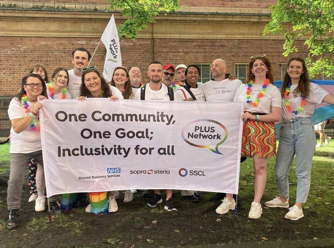
{"label": "woman with green sunglasses on her head and rainbow-striped legwear", "polygon": [[[100,72],[96,66],[82,68],[81,85],[79,92],[79,100],[86,100],[87,98],[110,98],[110,100],[123,99],[122,93],[114,86],[108,85],[106,80],[101,77]],[[91,192],[89,193],[91,204],[86,207],[87,213],[95,215],[104,215],[108,212],[116,212],[118,205],[115,200],[115,192]]]}

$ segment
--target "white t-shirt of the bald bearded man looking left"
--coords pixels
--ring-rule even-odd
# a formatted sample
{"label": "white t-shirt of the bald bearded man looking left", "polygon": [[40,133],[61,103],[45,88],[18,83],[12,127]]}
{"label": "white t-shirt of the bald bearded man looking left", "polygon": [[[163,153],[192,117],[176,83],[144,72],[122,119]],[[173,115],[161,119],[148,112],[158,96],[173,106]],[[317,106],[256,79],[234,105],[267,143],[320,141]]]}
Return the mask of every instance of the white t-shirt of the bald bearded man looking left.
{"label": "white t-shirt of the bald bearded man looking left", "polygon": [[203,85],[206,101],[233,101],[236,90],[242,85],[239,79],[207,81]]}

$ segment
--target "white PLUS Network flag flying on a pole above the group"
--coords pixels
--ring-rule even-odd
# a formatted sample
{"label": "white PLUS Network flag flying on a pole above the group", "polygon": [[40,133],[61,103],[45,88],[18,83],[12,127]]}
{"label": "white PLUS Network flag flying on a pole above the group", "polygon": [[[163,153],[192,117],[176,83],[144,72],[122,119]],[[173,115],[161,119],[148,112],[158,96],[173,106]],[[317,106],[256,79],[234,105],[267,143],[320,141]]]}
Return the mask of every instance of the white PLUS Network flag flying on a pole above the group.
{"label": "white PLUS Network flag flying on a pole above the group", "polygon": [[101,41],[107,49],[103,76],[110,82],[115,67],[122,66],[120,40],[118,39],[114,15],[110,18],[108,25],[101,36]]}

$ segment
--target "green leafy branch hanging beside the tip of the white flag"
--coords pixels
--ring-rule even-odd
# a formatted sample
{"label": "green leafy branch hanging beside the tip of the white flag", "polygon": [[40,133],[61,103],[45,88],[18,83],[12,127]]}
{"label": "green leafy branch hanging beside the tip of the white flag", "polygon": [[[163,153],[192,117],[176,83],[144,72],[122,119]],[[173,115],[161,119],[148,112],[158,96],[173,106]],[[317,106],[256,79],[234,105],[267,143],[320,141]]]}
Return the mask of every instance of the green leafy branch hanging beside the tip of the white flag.
{"label": "green leafy branch hanging beside the tip of the white flag", "polygon": [[154,23],[154,17],[161,11],[174,12],[180,9],[178,0],[107,0],[110,9],[122,9],[122,15],[130,17],[118,27],[122,39],[127,36],[136,39],[137,32],[146,29],[147,23]]}

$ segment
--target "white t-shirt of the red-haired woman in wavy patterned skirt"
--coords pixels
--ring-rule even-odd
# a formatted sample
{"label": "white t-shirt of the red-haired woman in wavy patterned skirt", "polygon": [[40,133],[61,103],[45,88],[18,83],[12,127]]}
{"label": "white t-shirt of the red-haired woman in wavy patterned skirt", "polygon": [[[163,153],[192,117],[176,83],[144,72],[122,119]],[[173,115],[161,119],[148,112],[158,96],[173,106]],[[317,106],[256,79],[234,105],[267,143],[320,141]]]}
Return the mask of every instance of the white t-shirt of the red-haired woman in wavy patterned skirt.
{"label": "white t-shirt of the red-haired woman in wavy patterned skirt", "polygon": [[[265,95],[260,98],[260,101],[256,107],[246,102],[246,91],[247,85],[242,84],[235,93],[234,101],[244,101],[244,107],[249,112],[259,112],[269,114],[272,112],[271,107],[280,107],[282,108],[282,98],[279,89],[273,85],[269,84],[265,90]],[[262,90],[262,85],[255,85],[252,86],[251,92],[251,100],[255,102],[256,97],[258,96],[259,92]]]}

